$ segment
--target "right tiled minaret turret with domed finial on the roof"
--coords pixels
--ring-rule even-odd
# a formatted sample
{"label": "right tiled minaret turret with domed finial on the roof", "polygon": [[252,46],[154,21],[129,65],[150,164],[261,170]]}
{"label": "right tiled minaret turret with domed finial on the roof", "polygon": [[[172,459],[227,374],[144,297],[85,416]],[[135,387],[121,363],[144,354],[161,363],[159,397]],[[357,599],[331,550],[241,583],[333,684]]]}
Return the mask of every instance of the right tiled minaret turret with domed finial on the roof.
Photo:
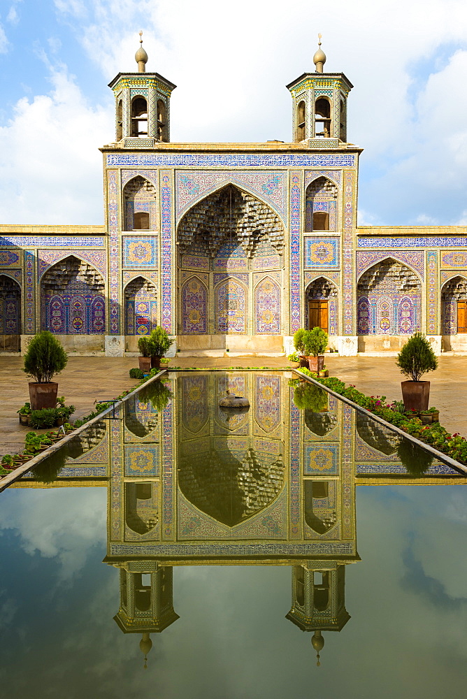
{"label": "right tiled minaret turret with domed finial on the roof", "polygon": [[303,73],[287,85],[292,94],[292,140],[310,147],[338,147],[347,143],[347,95],[353,85],[344,73],[323,73],[321,34],[313,63],[315,73]]}

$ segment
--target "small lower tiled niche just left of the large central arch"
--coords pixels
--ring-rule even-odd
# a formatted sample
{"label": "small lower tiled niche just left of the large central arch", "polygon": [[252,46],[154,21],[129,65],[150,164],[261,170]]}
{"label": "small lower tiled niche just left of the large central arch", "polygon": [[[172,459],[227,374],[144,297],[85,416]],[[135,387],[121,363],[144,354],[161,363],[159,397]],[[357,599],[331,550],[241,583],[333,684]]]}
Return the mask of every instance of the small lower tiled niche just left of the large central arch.
{"label": "small lower tiled niche just left of the large central arch", "polygon": [[124,289],[127,335],[149,335],[157,325],[156,287],[142,276]]}

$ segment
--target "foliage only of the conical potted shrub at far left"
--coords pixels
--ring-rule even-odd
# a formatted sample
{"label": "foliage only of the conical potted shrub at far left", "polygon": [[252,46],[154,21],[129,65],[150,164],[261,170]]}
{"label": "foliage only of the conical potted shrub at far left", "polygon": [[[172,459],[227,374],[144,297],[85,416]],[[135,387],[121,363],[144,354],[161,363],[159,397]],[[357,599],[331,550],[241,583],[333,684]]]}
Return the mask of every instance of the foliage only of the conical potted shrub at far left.
{"label": "foliage only of the conical potted shrub at far left", "polygon": [[38,384],[46,384],[66,367],[67,361],[66,352],[57,338],[44,330],[29,342],[24,355],[23,371]]}

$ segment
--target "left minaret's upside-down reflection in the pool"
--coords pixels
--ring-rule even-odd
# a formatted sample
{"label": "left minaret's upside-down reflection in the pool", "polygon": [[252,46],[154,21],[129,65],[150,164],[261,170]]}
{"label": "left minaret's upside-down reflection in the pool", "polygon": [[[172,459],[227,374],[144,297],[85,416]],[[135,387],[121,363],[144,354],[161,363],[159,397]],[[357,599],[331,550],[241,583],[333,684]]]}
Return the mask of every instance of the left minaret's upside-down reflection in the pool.
{"label": "left minaret's upside-down reflection in the pool", "polygon": [[123,633],[142,633],[145,655],[152,648],[150,633],[160,633],[179,617],[173,610],[172,568],[156,561],[129,561],[120,569],[120,610],[113,617]]}

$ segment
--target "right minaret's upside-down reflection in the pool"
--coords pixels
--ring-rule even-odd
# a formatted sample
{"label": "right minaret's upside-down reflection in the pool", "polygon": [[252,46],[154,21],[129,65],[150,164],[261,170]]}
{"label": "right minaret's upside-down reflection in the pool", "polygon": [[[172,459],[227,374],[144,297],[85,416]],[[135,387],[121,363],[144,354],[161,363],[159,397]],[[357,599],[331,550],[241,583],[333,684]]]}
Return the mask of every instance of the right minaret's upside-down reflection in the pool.
{"label": "right minaret's upside-down reflection in the pool", "polygon": [[286,619],[302,631],[314,631],[311,643],[324,646],[322,631],[340,631],[350,614],[345,609],[345,565],[337,561],[307,561],[292,568],[292,609]]}

